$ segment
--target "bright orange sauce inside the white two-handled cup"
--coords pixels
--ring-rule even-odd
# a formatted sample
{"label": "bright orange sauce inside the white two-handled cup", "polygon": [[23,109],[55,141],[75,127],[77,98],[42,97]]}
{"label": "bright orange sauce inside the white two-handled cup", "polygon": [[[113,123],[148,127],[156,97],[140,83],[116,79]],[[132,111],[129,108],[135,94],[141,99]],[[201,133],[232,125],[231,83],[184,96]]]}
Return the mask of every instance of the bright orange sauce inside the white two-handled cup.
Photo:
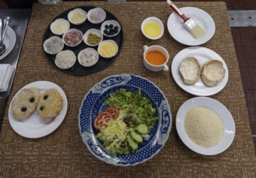
{"label": "bright orange sauce inside the white two-handled cup", "polygon": [[166,62],[166,57],[160,51],[149,51],[145,58],[148,63],[154,66],[160,66]]}

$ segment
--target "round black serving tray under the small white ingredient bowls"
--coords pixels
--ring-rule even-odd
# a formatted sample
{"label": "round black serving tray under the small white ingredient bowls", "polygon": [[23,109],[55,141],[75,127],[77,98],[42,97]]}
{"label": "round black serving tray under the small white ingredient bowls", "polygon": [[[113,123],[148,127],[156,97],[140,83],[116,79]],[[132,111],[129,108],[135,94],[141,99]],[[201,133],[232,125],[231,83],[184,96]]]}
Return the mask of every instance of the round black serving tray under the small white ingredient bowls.
{"label": "round black serving tray under the small white ingredient bowls", "polygon": [[[94,9],[95,6],[80,6],[80,7],[75,7],[73,9],[69,9],[67,11],[64,11],[63,13],[59,14],[58,16],[55,17],[55,19],[66,19],[68,20],[68,13],[76,8],[80,8],[80,9],[83,9],[84,11],[88,12],[90,9]],[[104,9],[105,10],[105,9]],[[105,10],[106,11],[106,10]],[[109,11],[106,11],[106,19],[105,21],[108,21],[108,20],[115,20],[115,21],[118,21],[118,19],[113,15],[111,14]],[[55,21],[55,19],[53,19],[53,21]],[[51,21],[50,23],[52,23],[53,21]],[[103,21],[104,22],[104,21]],[[103,23],[102,22],[102,23]],[[100,27],[102,25],[102,23],[100,24],[93,24],[93,23],[90,23],[90,21],[88,21],[88,19],[86,19],[85,23],[82,23],[81,25],[73,25],[72,23],[70,23],[70,28],[76,28],[80,31],[82,31],[82,34],[85,34],[85,32],[90,29],[90,28],[96,28],[96,29],[99,29],[100,30]],[[105,68],[107,66],[110,65],[110,63],[112,63],[114,61],[115,58],[117,58],[117,56],[119,55],[121,49],[122,49],[122,43],[124,41],[124,32],[122,30],[122,25],[121,23],[118,21],[118,23],[120,24],[121,26],[121,30],[120,32],[118,33],[117,36],[114,36],[114,37],[107,37],[107,36],[103,36],[103,40],[108,40],[108,39],[111,39],[113,41],[115,41],[118,45],[118,51],[117,51],[117,54],[112,57],[112,58],[102,58],[102,56],[99,55],[99,61],[97,61],[97,63],[94,65],[94,66],[91,66],[91,67],[84,67],[82,65],[80,65],[80,63],[78,63],[78,53],[80,51],[82,51],[83,49],[85,48],[94,48],[96,51],[97,51],[97,47],[98,46],[95,46],[95,47],[91,47],[91,46],[87,46],[85,44],[84,41],[82,41],[80,43],[80,45],[78,46],[75,46],[75,47],[69,47],[69,46],[66,46],[64,44],[64,48],[63,48],[63,51],[64,50],[71,50],[75,53],[75,56],[77,57],[77,61],[75,62],[75,65],[72,67],[72,68],[69,68],[69,69],[61,69],[61,68],[58,68],[54,61],[55,61],[55,55],[51,55],[51,54],[48,54],[46,53],[46,51],[43,50],[43,52],[45,53],[46,55],[46,58],[48,59],[48,61],[55,67],[57,68],[58,70],[60,71],[63,71],[64,73],[72,73],[72,74],[78,74],[78,75],[82,75],[82,74],[87,74],[87,73],[94,73],[98,70],[102,70],[102,68]],[[48,27],[46,28],[46,31],[45,33],[43,34],[43,43],[44,41],[46,41],[48,38],[50,38],[50,36],[55,36],[55,34],[53,34],[51,31],[50,31],[50,24],[48,25]],[[60,38],[62,38],[62,36],[59,36]],[[43,47],[43,44],[42,44],[42,47]]]}

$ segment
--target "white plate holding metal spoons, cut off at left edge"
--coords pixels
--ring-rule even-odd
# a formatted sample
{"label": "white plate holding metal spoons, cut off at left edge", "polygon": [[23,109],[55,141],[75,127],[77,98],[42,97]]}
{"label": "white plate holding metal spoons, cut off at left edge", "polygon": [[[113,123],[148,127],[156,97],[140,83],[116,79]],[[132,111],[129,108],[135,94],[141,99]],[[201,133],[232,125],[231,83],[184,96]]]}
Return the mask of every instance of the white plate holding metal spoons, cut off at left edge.
{"label": "white plate holding metal spoons, cut off at left edge", "polygon": [[14,48],[14,45],[16,43],[16,34],[14,30],[7,26],[6,33],[4,35],[4,45],[6,46],[6,51],[0,56],[0,60],[3,59],[5,56],[7,56],[11,50]]}

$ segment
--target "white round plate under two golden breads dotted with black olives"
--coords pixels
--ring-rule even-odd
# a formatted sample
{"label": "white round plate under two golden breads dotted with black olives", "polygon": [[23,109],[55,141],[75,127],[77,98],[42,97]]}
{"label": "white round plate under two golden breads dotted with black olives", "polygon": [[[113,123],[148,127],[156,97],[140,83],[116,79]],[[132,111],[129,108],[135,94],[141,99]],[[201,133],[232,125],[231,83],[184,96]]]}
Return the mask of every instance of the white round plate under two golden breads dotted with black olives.
{"label": "white round plate under two golden breads dotted with black olives", "polygon": [[[39,138],[39,137],[44,137],[46,135],[49,135],[51,132],[53,132],[60,126],[61,122],[63,122],[65,115],[67,113],[68,100],[64,91],[55,83],[51,83],[48,81],[37,81],[37,82],[29,83],[23,88],[38,88],[38,90],[40,91],[40,94],[43,94],[46,90],[50,88],[56,88],[60,93],[60,95],[62,96],[63,108],[60,110],[60,113],[53,119],[53,121],[48,124],[46,122],[43,122],[43,120],[40,119],[40,116],[37,111],[33,112],[26,119],[23,119],[23,120],[14,119],[14,116],[11,112],[11,104],[20,90],[16,93],[16,95],[14,95],[14,98],[11,100],[11,103],[9,105],[9,112],[8,112],[9,122],[11,124],[11,127],[14,129],[16,133],[18,133],[18,135],[21,135],[27,138]],[[23,88],[21,88],[21,90]]]}

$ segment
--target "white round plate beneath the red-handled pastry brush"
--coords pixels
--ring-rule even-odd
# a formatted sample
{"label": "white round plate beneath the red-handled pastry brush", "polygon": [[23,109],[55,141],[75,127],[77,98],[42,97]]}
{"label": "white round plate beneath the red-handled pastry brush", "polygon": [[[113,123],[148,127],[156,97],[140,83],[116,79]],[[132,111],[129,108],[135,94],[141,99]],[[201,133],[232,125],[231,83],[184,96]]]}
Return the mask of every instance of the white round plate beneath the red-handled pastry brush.
{"label": "white round plate beneath the red-handled pastry brush", "polygon": [[186,26],[183,25],[183,19],[173,12],[167,21],[167,28],[176,41],[188,46],[198,46],[206,43],[213,37],[215,33],[215,23],[213,18],[206,11],[196,7],[183,7],[181,11],[187,17],[192,17],[206,33],[201,38],[193,38]]}

